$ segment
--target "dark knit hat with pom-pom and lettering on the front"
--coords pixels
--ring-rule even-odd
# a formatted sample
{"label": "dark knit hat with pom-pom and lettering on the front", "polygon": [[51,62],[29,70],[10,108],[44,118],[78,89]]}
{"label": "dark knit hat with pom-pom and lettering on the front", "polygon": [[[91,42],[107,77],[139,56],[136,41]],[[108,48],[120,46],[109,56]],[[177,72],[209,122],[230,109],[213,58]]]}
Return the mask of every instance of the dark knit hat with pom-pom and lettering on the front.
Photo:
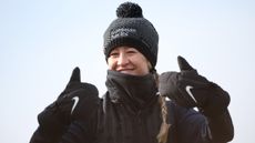
{"label": "dark knit hat with pom-pom and lettering on the front", "polygon": [[116,9],[116,19],[104,32],[104,54],[116,47],[132,47],[137,49],[154,69],[157,60],[159,35],[153,24],[143,18],[139,4],[124,2]]}

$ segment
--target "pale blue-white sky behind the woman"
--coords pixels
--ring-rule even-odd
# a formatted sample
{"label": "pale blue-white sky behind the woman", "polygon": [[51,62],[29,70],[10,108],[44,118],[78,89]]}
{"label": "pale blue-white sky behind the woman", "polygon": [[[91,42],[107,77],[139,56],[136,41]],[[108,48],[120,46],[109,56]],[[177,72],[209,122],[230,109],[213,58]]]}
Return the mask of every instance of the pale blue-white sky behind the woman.
{"label": "pale blue-white sky behind the woman", "polygon": [[[105,92],[103,32],[123,0],[0,0],[0,141],[28,143],[37,115],[80,67]],[[231,143],[254,143],[255,1],[137,0],[160,34],[156,69],[183,55],[231,94]]]}

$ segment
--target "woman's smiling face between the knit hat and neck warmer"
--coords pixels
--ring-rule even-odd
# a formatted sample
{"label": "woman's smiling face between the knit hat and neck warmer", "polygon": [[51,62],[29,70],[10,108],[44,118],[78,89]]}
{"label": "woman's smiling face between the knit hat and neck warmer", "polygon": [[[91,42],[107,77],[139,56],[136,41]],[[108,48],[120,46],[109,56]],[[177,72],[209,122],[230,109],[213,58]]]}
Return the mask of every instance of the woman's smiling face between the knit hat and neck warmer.
{"label": "woman's smiling face between the knit hat and neck warmer", "polygon": [[150,72],[150,62],[134,48],[119,47],[111,51],[108,58],[110,70],[132,74],[145,75]]}

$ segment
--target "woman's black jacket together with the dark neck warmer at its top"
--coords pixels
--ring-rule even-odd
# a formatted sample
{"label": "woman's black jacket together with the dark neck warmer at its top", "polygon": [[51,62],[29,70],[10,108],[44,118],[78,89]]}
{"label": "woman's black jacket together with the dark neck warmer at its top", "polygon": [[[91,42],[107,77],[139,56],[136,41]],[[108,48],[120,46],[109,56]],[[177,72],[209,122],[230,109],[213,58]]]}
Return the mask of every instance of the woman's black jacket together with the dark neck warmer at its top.
{"label": "woman's black jacket together with the dark neck warmer at its top", "polygon": [[[31,143],[157,143],[162,119],[153,76],[109,71],[106,86],[90,123],[72,122],[57,140],[49,140],[39,126]],[[172,101],[166,101],[166,106],[171,125],[167,143],[224,143],[233,137],[227,111],[208,119]]]}

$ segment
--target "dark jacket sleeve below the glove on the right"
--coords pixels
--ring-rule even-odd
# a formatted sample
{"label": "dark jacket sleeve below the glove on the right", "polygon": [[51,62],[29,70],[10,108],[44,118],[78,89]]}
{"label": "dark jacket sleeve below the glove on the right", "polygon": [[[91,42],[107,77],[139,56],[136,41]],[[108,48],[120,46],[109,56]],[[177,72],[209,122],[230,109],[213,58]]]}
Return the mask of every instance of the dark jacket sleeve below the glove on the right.
{"label": "dark jacket sleeve below the glove on the right", "polygon": [[226,143],[233,137],[233,124],[228,112],[217,118],[175,104],[175,123],[180,143]]}

